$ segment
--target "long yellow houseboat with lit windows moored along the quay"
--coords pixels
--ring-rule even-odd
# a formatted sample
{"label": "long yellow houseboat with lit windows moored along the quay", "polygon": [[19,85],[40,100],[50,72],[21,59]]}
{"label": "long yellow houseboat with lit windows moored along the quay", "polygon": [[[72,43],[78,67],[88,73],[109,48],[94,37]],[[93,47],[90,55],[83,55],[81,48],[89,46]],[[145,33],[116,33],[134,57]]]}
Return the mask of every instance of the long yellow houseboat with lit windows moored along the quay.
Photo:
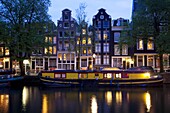
{"label": "long yellow houseboat with lit windows moored along the quay", "polygon": [[41,84],[50,87],[155,86],[163,77],[146,67],[103,70],[42,71]]}

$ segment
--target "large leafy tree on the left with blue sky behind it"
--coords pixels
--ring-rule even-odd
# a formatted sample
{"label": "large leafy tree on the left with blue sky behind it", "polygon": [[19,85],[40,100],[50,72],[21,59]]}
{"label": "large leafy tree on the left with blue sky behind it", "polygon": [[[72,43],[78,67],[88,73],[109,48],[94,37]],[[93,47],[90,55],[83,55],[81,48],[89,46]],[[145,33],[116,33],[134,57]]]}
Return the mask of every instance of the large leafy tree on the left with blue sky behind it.
{"label": "large leafy tree on the left with blue sky behind it", "polygon": [[43,47],[45,25],[49,21],[50,0],[0,0],[0,18],[4,25],[0,41],[8,47],[11,60],[30,58],[36,46]]}

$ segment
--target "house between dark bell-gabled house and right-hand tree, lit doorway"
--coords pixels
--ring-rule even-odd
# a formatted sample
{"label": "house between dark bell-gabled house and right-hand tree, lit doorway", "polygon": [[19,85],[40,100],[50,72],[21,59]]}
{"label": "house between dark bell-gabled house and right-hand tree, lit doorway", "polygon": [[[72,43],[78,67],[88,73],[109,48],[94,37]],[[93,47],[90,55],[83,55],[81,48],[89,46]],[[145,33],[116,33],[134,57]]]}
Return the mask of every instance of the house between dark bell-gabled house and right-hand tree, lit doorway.
{"label": "house between dark bell-gabled house and right-hand tree, lit doorway", "polygon": [[[114,19],[112,21],[112,35],[113,35],[113,55],[112,55],[112,67],[119,67],[127,69],[133,66],[133,59],[131,58],[132,49],[128,47],[128,44],[119,45],[122,31],[127,29],[129,20],[124,18]],[[126,37],[124,37],[126,38]],[[121,50],[120,50],[121,49]]]}

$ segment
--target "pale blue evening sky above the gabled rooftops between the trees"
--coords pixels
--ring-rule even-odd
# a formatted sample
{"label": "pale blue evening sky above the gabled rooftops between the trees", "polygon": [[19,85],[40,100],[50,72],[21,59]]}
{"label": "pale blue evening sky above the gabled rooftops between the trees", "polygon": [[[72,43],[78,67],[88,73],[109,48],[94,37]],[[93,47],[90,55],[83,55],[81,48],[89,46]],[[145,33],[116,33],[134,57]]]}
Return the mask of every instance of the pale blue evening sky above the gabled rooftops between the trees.
{"label": "pale blue evening sky above the gabled rooftops between the trees", "polygon": [[52,20],[57,23],[62,16],[63,9],[68,8],[72,11],[72,17],[76,18],[76,9],[80,3],[86,3],[87,20],[91,23],[94,15],[100,8],[106,9],[106,12],[112,19],[125,18],[131,20],[132,0],[51,0],[49,14]]}

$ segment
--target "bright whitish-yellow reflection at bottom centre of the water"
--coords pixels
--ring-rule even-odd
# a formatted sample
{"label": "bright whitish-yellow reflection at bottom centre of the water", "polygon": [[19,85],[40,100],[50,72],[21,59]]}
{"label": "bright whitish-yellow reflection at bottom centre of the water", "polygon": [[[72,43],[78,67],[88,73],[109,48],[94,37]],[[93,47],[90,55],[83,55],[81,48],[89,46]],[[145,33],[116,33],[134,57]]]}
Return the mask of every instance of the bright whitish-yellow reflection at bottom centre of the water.
{"label": "bright whitish-yellow reflection at bottom centre of the water", "polygon": [[98,113],[97,99],[95,95],[91,97],[91,113]]}

